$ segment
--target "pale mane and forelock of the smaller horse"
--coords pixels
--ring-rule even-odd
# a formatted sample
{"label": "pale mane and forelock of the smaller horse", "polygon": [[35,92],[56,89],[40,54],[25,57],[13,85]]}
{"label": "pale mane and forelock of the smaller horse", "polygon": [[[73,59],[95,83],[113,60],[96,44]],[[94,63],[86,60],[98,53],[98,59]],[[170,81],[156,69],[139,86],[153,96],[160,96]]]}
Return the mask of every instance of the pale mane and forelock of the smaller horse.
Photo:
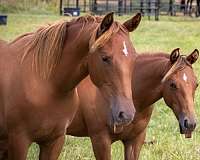
{"label": "pale mane and forelock of the smaller horse", "polygon": [[[152,53],[142,53],[142,54],[139,54],[138,57],[142,57],[143,59],[147,59],[147,58],[151,58],[151,57],[153,57],[153,58],[155,58],[155,57],[166,58],[168,60],[170,59],[170,55],[167,54],[167,53],[163,53],[163,52],[158,52],[158,53],[153,53],[153,54]],[[170,69],[165,72],[165,75],[162,78],[161,82],[164,82],[173,73],[184,69],[186,66],[189,66],[189,67],[192,68],[192,65],[187,61],[186,56],[180,55],[179,58],[177,59],[177,61],[174,64],[172,64],[172,65],[170,64]]]}

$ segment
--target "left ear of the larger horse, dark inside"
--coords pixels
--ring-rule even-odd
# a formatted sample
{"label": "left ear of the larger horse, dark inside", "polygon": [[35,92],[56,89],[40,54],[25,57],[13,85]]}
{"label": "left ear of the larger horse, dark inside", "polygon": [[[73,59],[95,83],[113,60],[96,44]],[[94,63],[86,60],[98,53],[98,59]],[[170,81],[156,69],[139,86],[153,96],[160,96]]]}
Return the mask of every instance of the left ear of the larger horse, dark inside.
{"label": "left ear of the larger horse, dark inside", "polygon": [[97,30],[97,36],[96,39],[99,38],[104,32],[106,32],[110,26],[113,24],[114,17],[113,17],[114,12],[110,12],[105,17],[103,18],[100,27]]}

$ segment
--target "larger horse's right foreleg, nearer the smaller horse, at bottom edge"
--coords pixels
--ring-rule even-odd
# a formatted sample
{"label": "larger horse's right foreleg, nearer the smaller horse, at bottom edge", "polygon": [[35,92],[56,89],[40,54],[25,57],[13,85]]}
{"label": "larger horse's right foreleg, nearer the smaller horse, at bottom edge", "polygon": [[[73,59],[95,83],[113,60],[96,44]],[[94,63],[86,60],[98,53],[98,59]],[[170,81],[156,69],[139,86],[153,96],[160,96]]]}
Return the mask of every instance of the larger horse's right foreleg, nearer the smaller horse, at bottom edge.
{"label": "larger horse's right foreleg, nearer the smaller horse, at bottom edge", "polygon": [[46,143],[40,143],[40,160],[57,160],[63,144],[65,141],[65,136],[62,135],[52,141],[48,141]]}

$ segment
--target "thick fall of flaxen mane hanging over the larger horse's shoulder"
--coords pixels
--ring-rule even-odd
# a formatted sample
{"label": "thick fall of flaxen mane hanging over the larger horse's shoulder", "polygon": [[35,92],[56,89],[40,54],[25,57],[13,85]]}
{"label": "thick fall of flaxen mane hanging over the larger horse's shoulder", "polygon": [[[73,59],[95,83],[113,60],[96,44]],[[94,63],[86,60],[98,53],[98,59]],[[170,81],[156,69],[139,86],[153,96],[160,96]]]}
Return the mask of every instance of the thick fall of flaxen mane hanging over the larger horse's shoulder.
{"label": "thick fall of flaxen mane hanging over the larger horse's shoulder", "polygon": [[29,53],[34,53],[32,66],[35,66],[36,72],[45,79],[60,61],[67,33],[66,25],[66,22],[60,21],[41,27],[32,34],[31,40],[26,44],[27,49],[22,61]]}

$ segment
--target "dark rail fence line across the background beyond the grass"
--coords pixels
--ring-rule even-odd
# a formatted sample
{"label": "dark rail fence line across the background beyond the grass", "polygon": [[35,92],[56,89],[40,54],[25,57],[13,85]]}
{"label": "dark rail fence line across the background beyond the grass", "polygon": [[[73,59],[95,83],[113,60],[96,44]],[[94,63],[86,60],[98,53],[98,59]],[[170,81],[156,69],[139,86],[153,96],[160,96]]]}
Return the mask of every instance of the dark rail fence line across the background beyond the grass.
{"label": "dark rail fence line across the background beyond the grass", "polygon": [[[172,2],[172,1],[171,1]],[[166,3],[160,2],[160,0],[141,0],[139,3],[128,3],[124,5],[122,1],[115,4],[109,3],[90,3],[90,4],[79,4],[79,6],[74,6],[74,4],[64,4],[63,8],[76,8],[78,7],[81,12],[91,12],[97,15],[103,15],[107,12],[114,11],[118,15],[133,14],[136,12],[141,12],[144,16],[155,17],[155,20],[159,20],[159,15],[192,15],[194,13],[199,16],[198,6],[192,5],[191,10],[189,6],[185,4],[177,3]]]}

